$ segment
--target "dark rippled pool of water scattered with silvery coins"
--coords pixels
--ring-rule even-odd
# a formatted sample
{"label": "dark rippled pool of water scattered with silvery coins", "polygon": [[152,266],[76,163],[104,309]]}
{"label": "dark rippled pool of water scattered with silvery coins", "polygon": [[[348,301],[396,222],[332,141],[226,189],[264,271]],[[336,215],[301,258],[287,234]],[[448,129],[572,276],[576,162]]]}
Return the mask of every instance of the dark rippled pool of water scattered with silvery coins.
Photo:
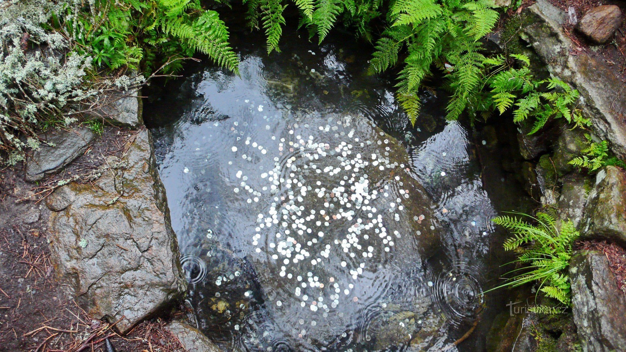
{"label": "dark rippled pool of water scattered with silvery coins", "polygon": [[198,328],[229,351],[456,350],[500,264],[468,128],[432,93],[410,127],[352,38],[296,36],[242,38],[240,76],[197,66],[146,106]]}

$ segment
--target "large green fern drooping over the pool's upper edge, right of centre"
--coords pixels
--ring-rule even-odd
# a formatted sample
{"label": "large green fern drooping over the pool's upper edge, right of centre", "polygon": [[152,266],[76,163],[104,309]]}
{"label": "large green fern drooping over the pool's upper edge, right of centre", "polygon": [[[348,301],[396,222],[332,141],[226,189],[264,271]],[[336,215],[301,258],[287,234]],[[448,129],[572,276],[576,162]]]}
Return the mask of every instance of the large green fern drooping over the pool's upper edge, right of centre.
{"label": "large green fern drooping over the pool's upper edge, right of centre", "polygon": [[399,73],[398,100],[411,123],[419,113],[418,88],[436,65],[446,72],[453,92],[448,119],[456,119],[468,100],[480,90],[486,57],[478,39],[498,20],[492,1],[487,0],[397,0],[387,13],[390,26],[376,42],[370,72],[381,73],[395,66],[399,53],[408,54]]}

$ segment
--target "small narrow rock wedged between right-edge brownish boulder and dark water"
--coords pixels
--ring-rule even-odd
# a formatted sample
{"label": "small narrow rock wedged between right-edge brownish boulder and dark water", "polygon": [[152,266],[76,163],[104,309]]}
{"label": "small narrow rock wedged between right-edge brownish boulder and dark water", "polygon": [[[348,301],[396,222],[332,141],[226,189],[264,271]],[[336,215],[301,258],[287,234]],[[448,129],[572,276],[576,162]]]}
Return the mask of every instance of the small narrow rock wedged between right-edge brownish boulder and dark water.
{"label": "small narrow rock wedged between right-edge brownish boulder and dark water", "polygon": [[587,179],[573,177],[563,181],[561,195],[558,199],[558,212],[561,220],[572,220],[575,227],[578,227],[583,216],[583,209],[587,203],[588,194]]}

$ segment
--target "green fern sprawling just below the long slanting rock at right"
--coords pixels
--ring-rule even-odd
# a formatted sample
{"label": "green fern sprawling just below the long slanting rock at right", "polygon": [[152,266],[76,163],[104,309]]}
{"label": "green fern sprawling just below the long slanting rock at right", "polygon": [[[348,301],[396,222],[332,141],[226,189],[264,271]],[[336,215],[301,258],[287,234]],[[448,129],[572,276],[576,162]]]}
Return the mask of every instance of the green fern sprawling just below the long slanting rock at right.
{"label": "green fern sprawling just below the long slanting rock at right", "polygon": [[578,91],[557,78],[536,80],[529,68],[530,59],[523,54],[511,54],[520,68],[505,70],[506,60],[496,56],[486,60],[494,73],[486,80],[491,88],[481,108],[490,111],[495,108],[500,114],[513,109],[513,122],[522,123],[532,117],[533,126],[529,135],[536,133],[550,119],[565,118],[574,127],[587,127],[590,120],[583,118],[576,108]]}

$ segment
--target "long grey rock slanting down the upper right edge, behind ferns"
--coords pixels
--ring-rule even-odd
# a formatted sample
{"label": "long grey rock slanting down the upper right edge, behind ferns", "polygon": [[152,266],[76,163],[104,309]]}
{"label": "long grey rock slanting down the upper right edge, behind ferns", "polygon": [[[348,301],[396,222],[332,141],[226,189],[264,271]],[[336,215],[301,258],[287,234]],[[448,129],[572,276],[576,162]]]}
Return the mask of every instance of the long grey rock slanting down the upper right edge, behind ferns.
{"label": "long grey rock slanting down the upper right edge, behind ferns", "polygon": [[563,32],[564,11],[546,0],[538,0],[528,10],[522,38],[535,49],[550,75],[580,92],[583,116],[591,119],[600,138],[612,143],[618,157],[626,158],[626,125],[622,122],[626,115],[626,90],[615,75],[615,68],[585,53],[569,53],[575,46]]}

